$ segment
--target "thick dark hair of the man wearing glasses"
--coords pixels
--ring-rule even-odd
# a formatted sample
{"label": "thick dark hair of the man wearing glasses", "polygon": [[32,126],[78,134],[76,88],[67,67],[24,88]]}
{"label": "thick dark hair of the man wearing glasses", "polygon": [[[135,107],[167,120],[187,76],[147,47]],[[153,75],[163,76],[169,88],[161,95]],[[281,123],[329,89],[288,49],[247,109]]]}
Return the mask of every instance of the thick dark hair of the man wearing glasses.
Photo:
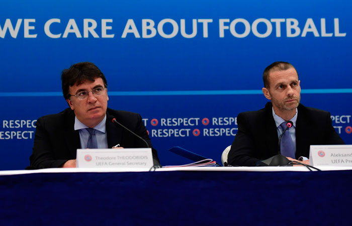
{"label": "thick dark hair of the man wearing glasses", "polygon": [[81,62],[64,69],[61,74],[62,93],[65,99],[70,97],[69,87],[75,84],[82,84],[84,81],[95,81],[96,78],[102,78],[105,88],[108,87],[108,82],[102,71],[91,62]]}

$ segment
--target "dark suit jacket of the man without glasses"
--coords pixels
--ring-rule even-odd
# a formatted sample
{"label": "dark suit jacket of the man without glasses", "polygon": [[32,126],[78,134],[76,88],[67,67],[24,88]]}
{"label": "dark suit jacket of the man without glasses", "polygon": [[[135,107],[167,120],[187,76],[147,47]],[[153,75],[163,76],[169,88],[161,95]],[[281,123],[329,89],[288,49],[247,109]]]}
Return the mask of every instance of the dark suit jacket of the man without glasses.
{"label": "dark suit jacket of the man without glasses", "polygon": [[[272,106],[268,102],[263,109],[237,116],[238,132],[228,155],[229,165],[255,166],[257,161],[278,154],[279,138]],[[296,159],[309,157],[310,145],[344,144],[332,127],[329,112],[302,104],[297,109]]]}

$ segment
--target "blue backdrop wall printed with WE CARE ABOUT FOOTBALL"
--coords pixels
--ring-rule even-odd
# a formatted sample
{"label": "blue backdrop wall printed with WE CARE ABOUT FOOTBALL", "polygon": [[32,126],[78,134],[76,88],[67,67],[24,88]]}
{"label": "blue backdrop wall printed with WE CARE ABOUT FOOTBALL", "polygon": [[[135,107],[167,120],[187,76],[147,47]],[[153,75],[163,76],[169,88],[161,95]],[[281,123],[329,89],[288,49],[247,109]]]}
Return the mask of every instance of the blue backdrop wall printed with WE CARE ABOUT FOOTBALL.
{"label": "blue backdrop wall printed with WE CARE ABOUT FOOTBALL", "polygon": [[[29,165],[35,122],[68,107],[60,74],[94,62],[108,106],[139,112],[162,165],[182,146],[220,162],[262,71],[291,62],[301,102],[352,144],[350,1],[6,1],[0,8],[0,169]],[[260,127],[261,125],[258,125]]]}

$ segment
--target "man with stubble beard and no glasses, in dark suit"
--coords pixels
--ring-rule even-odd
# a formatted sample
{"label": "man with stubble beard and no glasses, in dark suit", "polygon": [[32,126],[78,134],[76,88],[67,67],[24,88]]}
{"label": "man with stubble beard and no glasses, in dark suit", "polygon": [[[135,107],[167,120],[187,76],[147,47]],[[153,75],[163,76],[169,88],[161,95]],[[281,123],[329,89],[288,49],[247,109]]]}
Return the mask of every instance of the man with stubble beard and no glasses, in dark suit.
{"label": "man with stubble beard and no glasses, in dark suit", "polygon": [[263,72],[263,82],[262,92],[271,102],[263,109],[238,115],[238,132],[228,155],[229,165],[256,166],[260,160],[277,155],[279,136],[284,131],[280,125],[288,121],[293,122],[293,127],[285,132],[292,142],[285,153],[289,160],[308,164],[310,145],[344,144],[332,127],[329,112],[300,104],[300,81],[293,65],[274,62]]}

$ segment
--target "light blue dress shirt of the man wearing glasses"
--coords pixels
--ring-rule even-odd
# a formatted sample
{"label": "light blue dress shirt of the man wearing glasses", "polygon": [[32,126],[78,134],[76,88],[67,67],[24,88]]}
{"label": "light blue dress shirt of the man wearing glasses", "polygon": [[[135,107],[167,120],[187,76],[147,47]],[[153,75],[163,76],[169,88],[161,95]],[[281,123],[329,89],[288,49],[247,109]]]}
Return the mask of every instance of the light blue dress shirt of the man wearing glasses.
{"label": "light blue dress shirt of the man wearing glasses", "polygon": [[[93,129],[97,130],[96,131],[96,138],[97,138],[97,144],[98,148],[108,148],[108,136],[106,134],[106,115],[103,119],[102,122],[100,122],[96,127]],[[89,138],[89,132],[85,130],[85,128],[89,128],[79,122],[77,117],[74,119],[74,130],[79,130],[79,140],[80,140],[80,147],[81,149],[86,149],[87,148],[87,142]]]}

